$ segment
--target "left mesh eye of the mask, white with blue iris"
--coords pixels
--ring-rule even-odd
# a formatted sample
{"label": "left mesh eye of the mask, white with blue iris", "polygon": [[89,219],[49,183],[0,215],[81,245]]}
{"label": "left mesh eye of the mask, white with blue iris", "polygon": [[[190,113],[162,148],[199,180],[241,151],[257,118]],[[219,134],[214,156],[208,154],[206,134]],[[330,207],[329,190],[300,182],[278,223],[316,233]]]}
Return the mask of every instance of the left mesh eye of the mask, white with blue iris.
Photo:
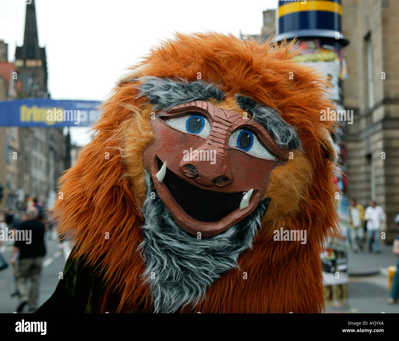
{"label": "left mesh eye of the mask, white with blue iris", "polygon": [[207,138],[211,132],[209,120],[201,115],[186,115],[177,118],[165,120],[168,126],[171,126],[181,132],[197,134]]}

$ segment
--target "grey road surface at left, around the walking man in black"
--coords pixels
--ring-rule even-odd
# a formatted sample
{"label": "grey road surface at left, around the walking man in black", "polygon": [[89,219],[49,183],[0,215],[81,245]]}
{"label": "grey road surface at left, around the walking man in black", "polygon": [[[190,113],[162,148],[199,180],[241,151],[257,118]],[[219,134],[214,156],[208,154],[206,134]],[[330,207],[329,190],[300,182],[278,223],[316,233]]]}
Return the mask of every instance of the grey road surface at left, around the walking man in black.
{"label": "grey road surface at left, around the walking man in black", "polygon": [[[13,242],[4,241],[6,251],[3,256],[8,263],[10,260]],[[43,268],[41,270],[39,306],[43,304],[53,293],[58,283],[59,272],[63,270],[65,257],[62,251],[59,251],[58,242],[55,240],[46,240],[47,253],[44,256]],[[11,297],[16,289],[14,275],[11,265],[0,271],[0,313],[13,313],[18,305],[18,299]],[[25,311],[27,308],[25,308]]]}

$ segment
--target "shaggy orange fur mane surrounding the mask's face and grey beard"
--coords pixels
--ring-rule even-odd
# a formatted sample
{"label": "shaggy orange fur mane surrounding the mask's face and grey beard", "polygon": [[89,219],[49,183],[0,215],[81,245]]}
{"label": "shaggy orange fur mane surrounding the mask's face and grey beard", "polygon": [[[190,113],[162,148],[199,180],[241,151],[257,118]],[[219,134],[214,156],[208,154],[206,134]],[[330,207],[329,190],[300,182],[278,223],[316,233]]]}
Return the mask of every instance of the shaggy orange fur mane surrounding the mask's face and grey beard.
{"label": "shaggy orange fur mane surrounding the mask's face and grey beard", "polygon": [[[319,255],[322,241],[336,229],[337,215],[333,165],[318,128],[332,132],[334,127],[320,121],[320,110],[331,106],[323,99],[324,82],[291,60],[292,47],[216,33],[176,34],[137,65],[150,65],[146,76],[176,80],[194,81],[200,72],[226,98],[242,94],[276,108],[297,129],[303,146],[303,152],[294,151],[286,166],[272,172],[267,191],[271,203],[253,249],[239,257],[239,269],[222,275],[202,303],[183,312],[301,313],[324,308]],[[119,311],[140,305],[150,312],[149,289],[142,283],[145,264],[137,248],[145,193],[141,154],[154,136],[148,123],[152,105],[138,98],[138,82],[116,87],[102,106],[94,139],[60,179],[63,199],[57,199],[53,214],[59,232],[73,233],[78,244],[72,257],[85,256],[87,265],[119,294]],[[280,227],[307,229],[308,242],[274,241],[273,230]]]}

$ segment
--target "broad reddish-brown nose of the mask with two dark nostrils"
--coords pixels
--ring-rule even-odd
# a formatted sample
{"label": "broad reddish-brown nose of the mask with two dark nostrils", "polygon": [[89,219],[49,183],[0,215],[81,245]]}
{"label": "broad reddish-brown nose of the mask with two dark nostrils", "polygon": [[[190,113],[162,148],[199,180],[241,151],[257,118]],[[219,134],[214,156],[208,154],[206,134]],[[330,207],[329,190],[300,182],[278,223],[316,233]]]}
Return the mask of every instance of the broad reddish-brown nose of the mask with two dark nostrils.
{"label": "broad reddish-brown nose of the mask with two dark nostrils", "polygon": [[203,186],[225,187],[234,181],[227,146],[206,140],[180,162],[180,171]]}

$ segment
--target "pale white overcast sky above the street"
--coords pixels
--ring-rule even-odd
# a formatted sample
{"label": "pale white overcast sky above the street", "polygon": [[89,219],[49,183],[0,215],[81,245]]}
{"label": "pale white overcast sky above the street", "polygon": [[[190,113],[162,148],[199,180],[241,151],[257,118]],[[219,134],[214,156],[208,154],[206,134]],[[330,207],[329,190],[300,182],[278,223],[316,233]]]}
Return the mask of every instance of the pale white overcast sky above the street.
{"label": "pale white overcast sky above the street", "polygon": [[[51,98],[103,101],[128,66],[174,32],[260,34],[263,11],[277,0],[36,0],[35,6]],[[10,62],[24,41],[25,8],[26,0],[0,0],[0,39]],[[86,144],[87,130],[71,128],[72,142]]]}

